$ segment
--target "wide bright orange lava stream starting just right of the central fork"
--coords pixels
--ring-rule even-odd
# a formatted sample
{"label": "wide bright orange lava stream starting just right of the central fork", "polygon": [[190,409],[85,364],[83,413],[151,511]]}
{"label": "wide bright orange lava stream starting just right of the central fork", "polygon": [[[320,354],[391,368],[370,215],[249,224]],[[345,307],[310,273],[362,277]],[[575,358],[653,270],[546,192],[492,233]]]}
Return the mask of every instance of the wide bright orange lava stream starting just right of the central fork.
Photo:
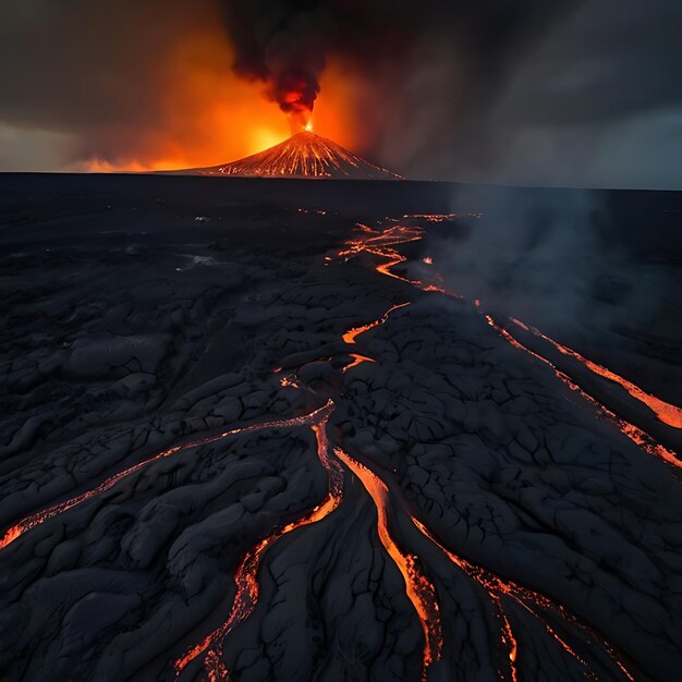
{"label": "wide bright orange lava stream starting just right of the central fork", "polygon": [[434,585],[421,571],[414,555],[403,553],[391,537],[388,527],[388,488],[386,484],[366,466],[356,462],[340,448],[334,448],[337,456],[361,479],[377,509],[377,532],[379,540],[391,557],[405,581],[405,592],[416,611],[424,632],[424,660],[422,680],[426,680],[428,667],[440,660],[442,649],[442,629],[440,608],[436,599]]}

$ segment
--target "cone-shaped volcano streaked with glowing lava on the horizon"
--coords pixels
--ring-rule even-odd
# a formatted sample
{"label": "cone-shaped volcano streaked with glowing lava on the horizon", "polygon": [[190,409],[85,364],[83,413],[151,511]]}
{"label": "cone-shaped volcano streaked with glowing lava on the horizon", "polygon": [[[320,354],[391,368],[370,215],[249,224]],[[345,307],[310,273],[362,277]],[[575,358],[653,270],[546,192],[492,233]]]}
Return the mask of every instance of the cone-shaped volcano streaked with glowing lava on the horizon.
{"label": "cone-shaped volcano streaked with glowing lava on the horizon", "polygon": [[182,172],[242,178],[402,180],[400,175],[361,159],[331,139],[309,132],[297,133],[279,145],[239,161]]}

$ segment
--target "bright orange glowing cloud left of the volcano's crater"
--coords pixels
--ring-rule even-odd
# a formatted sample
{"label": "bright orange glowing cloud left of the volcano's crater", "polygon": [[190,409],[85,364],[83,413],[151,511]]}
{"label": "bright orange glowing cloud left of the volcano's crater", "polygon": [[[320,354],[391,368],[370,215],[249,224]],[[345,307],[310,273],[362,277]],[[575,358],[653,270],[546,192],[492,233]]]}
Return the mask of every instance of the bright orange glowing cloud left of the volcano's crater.
{"label": "bright orange glowing cloud left of the volcano's crater", "polygon": [[220,31],[204,28],[165,56],[154,84],[160,115],[132,133],[134,154],[90,158],[94,172],[154,171],[212,166],[285,139],[289,122],[259,87],[231,70],[233,56]]}

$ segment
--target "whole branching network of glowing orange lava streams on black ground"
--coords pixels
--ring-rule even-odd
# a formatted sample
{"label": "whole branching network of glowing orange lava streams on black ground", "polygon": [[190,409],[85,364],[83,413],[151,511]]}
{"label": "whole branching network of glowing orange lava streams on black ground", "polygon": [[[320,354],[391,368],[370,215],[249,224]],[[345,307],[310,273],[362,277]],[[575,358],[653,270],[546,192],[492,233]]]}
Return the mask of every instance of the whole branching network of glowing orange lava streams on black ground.
{"label": "whole branching network of glowing orange lava streams on black ground", "polygon": [[[419,216],[418,218],[428,222],[440,222],[442,220],[450,219],[451,217],[452,216]],[[414,216],[409,216],[405,218],[410,218],[412,220],[415,219]],[[358,255],[361,253],[367,253],[381,259],[381,263],[376,265],[375,269],[383,276],[398,279],[422,291],[438,291],[449,295],[458,295],[454,292],[449,292],[444,288],[433,283],[434,281],[438,280],[433,280],[433,282],[430,283],[422,282],[418,280],[411,280],[401,277],[392,271],[392,268],[394,266],[407,260],[407,257],[399,253],[397,247],[409,242],[422,240],[424,234],[423,228],[406,227],[403,224],[392,224],[383,231],[373,230],[372,228],[368,228],[366,226],[360,226],[360,228],[362,230],[362,236],[350,240],[345,244],[344,249],[339,252],[338,255],[340,257],[345,257],[348,259],[349,257]],[[427,264],[431,265],[430,259],[427,260]],[[342,334],[343,342],[349,345],[355,345],[361,334],[380,325],[386,324],[390,315],[394,310],[409,306],[411,302],[407,301],[393,305],[388,308],[388,310],[378,319],[348,330],[345,333]],[[478,307],[479,304],[477,302],[477,308]],[[621,430],[623,430],[623,433],[625,433],[630,438],[632,438],[636,442],[640,442],[640,444],[642,444],[647,451],[662,456],[663,459],[666,459],[666,461],[669,461],[677,466],[682,466],[682,462],[677,460],[673,453],[665,450],[660,446],[657,446],[644,431],[631,424],[623,422],[607,407],[599,404],[594,398],[585,393],[585,391],[576,386],[569,376],[557,369],[557,367],[555,367],[550,363],[550,361],[543,357],[535,351],[529,350],[520,341],[517,341],[490,315],[485,315],[485,317],[488,324],[508,343],[510,343],[514,348],[523,350],[526,353],[529,353],[536,360],[550,365],[555,370],[557,377],[561,381],[563,381],[572,390],[579,391],[581,395],[590,401],[592,404],[600,410],[602,414],[606,414],[609,418],[611,418],[611,421],[616,423],[619,428],[621,428]],[[625,379],[622,379],[621,377],[618,377],[618,375],[614,375],[610,370],[601,367],[600,365],[597,365],[596,363],[590,363],[582,355],[577,354],[575,351],[572,351],[571,349],[568,349],[567,346],[563,346],[560,343],[552,341],[548,337],[541,334],[541,332],[539,332],[538,330],[534,328],[528,328],[519,320],[514,321],[527,331],[532,331],[533,333],[536,333],[549,343],[553,344],[555,348],[557,348],[563,354],[570,355],[571,357],[582,362],[590,370],[595,372],[599,376],[617,381],[618,383],[623,386],[623,388],[625,388],[633,397],[642,400],[643,402],[645,402],[645,404],[649,405],[651,410],[654,410],[659,415],[659,418],[661,418],[661,421],[672,426],[677,426],[678,428],[680,427],[679,422],[675,421],[679,419],[680,411],[673,405],[663,403],[655,397],[644,393],[641,389],[638,389],[638,387],[634,386],[633,383],[626,381]],[[348,372],[352,367],[357,366],[361,363],[376,362],[374,358],[366,355],[361,355],[358,353],[351,353],[350,357],[352,362],[342,368],[343,373]],[[281,367],[275,368],[273,372],[281,372]],[[283,387],[290,387],[300,390],[306,389],[305,385],[297,380],[295,374],[281,377],[280,382]],[[226,638],[231,632],[234,631],[234,629],[240,623],[243,623],[254,612],[254,609],[258,604],[260,593],[258,572],[267,550],[273,544],[276,544],[277,540],[283,538],[284,536],[296,529],[322,521],[339,508],[344,496],[344,468],[342,466],[344,465],[348,471],[357,476],[364,489],[372,499],[374,507],[376,508],[376,527],[379,541],[381,543],[381,546],[386,550],[387,555],[390,557],[390,559],[399,570],[400,574],[402,575],[405,595],[412,604],[418,618],[422,633],[424,636],[421,678],[422,681],[425,682],[427,679],[429,667],[433,663],[439,661],[443,657],[443,650],[446,650],[441,610],[438,601],[436,586],[430,582],[424,570],[421,568],[423,565],[423,561],[421,561],[416,555],[411,553],[410,551],[403,551],[400,548],[399,544],[395,541],[393,535],[391,534],[389,515],[392,512],[390,506],[392,500],[391,492],[393,488],[391,488],[390,486],[392,486],[393,483],[388,482],[388,479],[382,479],[373,468],[355,460],[353,456],[348,454],[341,447],[332,448],[330,446],[327,436],[327,425],[333,410],[334,403],[331,399],[329,399],[324,406],[305,415],[301,415],[290,419],[265,422],[261,424],[255,424],[242,428],[226,430],[215,436],[208,436],[206,438],[194,440],[192,442],[187,442],[181,446],[174,446],[172,448],[158,452],[154,456],[143,462],[139,462],[118,474],[114,474],[113,476],[110,476],[97,487],[86,492],[83,492],[82,495],[36,512],[22,520],[16,525],[12,526],[5,532],[4,536],[0,540],[0,549],[7,547],[17,537],[20,537],[31,528],[37,526],[38,524],[49,519],[52,519],[53,516],[62,512],[65,512],[66,510],[75,507],[76,504],[80,504],[81,502],[84,502],[97,495],[109,490],[120,480],[126,478],[135,472],[138,472],[143,467],[159,459],[170,456],[190,448],[196,448],[199,446],[212,443],[221,439],[241,434],[247,434],[268,428],[309,426],[315,434],[317,458],[327,473],[327,492],[325,497],[318,504],[316,504],[309,511],[303,513],[303,515],[300,516],[297,520],[277,527],[266,537],[258,540],[251,549],[245,552],[243,558],[239,561],[234,571],[235,592],[227,620],[219,628],[217,628],[208,635],[206,635],[203,640],[200,640],[197,644],[188,648],[173,662],[174,674],[176,678],[180,677],[183,671],[185,671],[187,666],[190,666],[193,661],[197,661],[197,659],[202,660],[202,658],[199,657],[203,657],[204,670],[206,671],[206,675],[209,680],[229,680],[229,671],[226,667],[226,663],[223,662],[223,648],[226,644]],[[399,506],[398,509],[400,511],[400,509],[403,508],[404,506]],[[549,597],[546,597],[543,594],[524,587],[513,581],[502,579],[492,571],[459,557],[454,552],[450,551],[442,543],[440,543],[437,539],[436,534],[433,533],[424,523],[417,520],[412,513],[407,512],[407,515],[418,533],[421,533],[427,540],[429,540],[435,547],[437,547],[453,567],[466,574],[468,579],[474,581],[474,583],[483,588],[487,594],[495,617],[499,624],[499,643],[501,644],[502,650],[506,653],[506,663],[503,666],[503,669],[499,669],[500,678],[510,679],[511,682],[519,682],[520,679],[520,673],[517,669],[517,659],[520,656],[519,641],[512,629],[512,621],[510,621],[510,617],[506,612],[507,606],[514,606],[522,608],[525,612],[537,619],[541,623],[546,634],[551,637],[551,640],[559,647],[561,647],[561,650],[565,655],[570,656],[571,659],[574,660],[582,668],[586,677],[590,679],[596,679],[596,673],[594,670],[592,670],[590,665],[587,662],[587,660],[585,660],[585,658],[581,656],[581,647],[570,644],[568,640],[571,640],[572,637],[563,635],[562,631],[564,629],[571,635],[574,635],[577,632],[580,634],[579,641],[586,643],[598,643],[602,651],[605,651],[610,659],[609,668],[617,668],[620,671],[621,675],[628,678],[628,680],[630,680],[631,682],[633,681],[632,675],[619,661],[613,648],[609,645],[609,643],[601,638],[598,634],[596,634],[588,625],[584,624],[576,616],[574,616],[561,604],[558,604]],[[553,628],[550,624],[550,614],[555,621],[560,621],[562,623],[562,628],[559,629],[561,632],[558,632],[557,628]]]}

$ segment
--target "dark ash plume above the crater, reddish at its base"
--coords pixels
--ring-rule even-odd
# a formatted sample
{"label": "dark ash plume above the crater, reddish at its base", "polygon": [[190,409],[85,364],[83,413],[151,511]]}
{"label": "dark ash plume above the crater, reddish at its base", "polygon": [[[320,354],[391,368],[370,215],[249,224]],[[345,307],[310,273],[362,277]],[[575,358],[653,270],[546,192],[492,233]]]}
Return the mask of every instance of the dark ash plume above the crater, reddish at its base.
{"label": "dark ash plume above the crater, reddish at its base", "polygon": [[313,110],[327,58],[341,58],[369,77],[380,74],[389,88],[399,88],[415,46],[443,34],[466,53],[475,76],[470,83],[477,83],[477,89],[495,87],[513,49],[573,4],[574,0],[224,0],[236,50],[235,73],[265,83],[267,95],[282,111],[294,114]]}

